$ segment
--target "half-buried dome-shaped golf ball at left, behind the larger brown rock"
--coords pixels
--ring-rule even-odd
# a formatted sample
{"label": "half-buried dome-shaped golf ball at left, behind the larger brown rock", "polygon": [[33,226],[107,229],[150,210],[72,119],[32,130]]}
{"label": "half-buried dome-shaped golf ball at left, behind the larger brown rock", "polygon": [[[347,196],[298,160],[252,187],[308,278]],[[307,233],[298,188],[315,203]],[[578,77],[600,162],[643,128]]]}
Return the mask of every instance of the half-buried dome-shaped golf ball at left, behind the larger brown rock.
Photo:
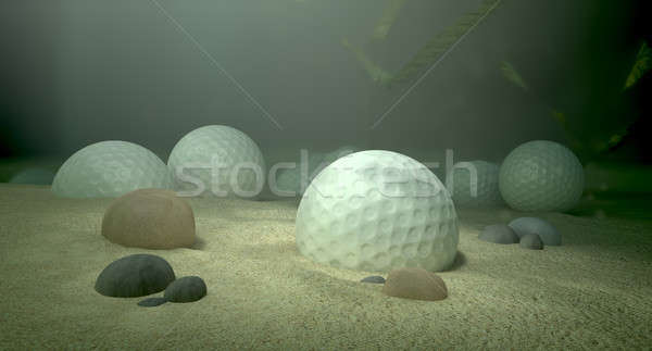
{"label": "half-buried dome-shaped golf ball at left, behind the larger brown rock", "polygon": [[142,188],[168,189],[165,163],[148,149],[127,141],[89,145],[57,172],[52,192],[64,198],[113,198]]}

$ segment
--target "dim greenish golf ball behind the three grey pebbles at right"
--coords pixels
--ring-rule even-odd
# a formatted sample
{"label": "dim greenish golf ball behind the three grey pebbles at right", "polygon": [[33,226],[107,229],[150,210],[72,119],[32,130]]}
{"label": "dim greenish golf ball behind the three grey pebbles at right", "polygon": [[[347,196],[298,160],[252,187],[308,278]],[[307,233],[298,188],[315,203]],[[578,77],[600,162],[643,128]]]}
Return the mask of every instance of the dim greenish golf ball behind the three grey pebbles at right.
{"label": "dim greenish golf ball behind the three grey pebbles at right", "polygon": [[567,211],[584,190],[584,170],[566,147],[547,140],[523,143],[505,158],[500,192],[519,211]]}

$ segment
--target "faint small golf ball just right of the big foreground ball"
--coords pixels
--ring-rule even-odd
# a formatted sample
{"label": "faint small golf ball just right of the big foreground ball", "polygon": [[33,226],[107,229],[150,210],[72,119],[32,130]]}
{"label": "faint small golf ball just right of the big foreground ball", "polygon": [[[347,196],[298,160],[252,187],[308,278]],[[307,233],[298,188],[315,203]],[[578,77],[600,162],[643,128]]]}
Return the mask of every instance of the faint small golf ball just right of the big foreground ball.
{"label": "faint small golf ball just right of the big foreground ball", "polygon": [[487,161],[455,163],[447,179],[452,181],[451,195],[455,205],[492,206],[503,203],[498,188],[499,172],[498,164]]}

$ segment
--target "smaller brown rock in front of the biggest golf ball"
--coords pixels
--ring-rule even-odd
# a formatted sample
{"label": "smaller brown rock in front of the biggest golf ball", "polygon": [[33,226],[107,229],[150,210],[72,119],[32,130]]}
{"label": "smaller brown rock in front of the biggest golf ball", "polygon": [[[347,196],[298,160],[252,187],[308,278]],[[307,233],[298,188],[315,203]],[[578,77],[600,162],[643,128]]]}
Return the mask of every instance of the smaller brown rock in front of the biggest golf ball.
{"label": "smaller brown rock in front of the biggest golf ball", "polygon": [[390,297],[437,301],[448,296],[446,284],[435,273],[405,267],[389,272],[383,292]]}

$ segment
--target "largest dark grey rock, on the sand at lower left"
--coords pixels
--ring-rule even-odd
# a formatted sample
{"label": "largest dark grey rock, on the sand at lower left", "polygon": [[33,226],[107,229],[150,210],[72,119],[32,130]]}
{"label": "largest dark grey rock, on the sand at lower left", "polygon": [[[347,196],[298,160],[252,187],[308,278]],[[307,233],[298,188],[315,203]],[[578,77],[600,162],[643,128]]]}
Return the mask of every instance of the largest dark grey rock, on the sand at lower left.
{"label": "largest dark grey rock, on the sand at lower left", "polygon": [[174,279],[167,261],[139,253],[111,262],[98,276],[95,289],[108,297],[135,298],[163,291]]}

